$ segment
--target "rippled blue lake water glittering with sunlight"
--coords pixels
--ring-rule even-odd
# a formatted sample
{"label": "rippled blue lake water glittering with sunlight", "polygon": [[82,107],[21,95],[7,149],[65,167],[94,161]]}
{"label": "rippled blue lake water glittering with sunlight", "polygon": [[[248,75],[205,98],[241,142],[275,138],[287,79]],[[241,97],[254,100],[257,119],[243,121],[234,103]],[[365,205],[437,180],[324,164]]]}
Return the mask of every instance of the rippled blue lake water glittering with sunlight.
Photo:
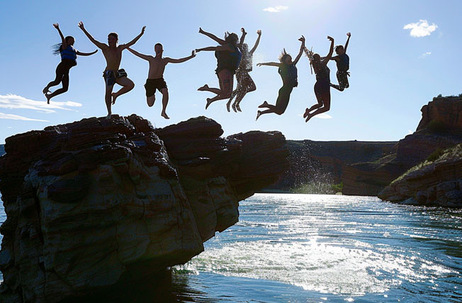
{"label": "rippled blue lake water glittering with sunlight", "polygon": [[461,275],[462,211],[255,194],[173,287],[180,302],[462,302]]}

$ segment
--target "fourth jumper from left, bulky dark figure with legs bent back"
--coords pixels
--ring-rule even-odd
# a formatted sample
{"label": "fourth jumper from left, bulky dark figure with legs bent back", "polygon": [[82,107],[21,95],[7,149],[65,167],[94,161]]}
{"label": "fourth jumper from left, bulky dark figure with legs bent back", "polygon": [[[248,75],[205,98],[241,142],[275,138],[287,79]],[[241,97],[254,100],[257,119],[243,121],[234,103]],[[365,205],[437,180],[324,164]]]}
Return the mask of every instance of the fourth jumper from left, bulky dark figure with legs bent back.
{"label": "fourth jumper from left, bulky dark figure with legs bent back", "polygon": [[215,70],[218,80],[220,82],[220,88],[215,89],[208,87],[205,84],[203,87],[199,87],[198,91],[204,92],[213,92],[216,94],[213,98],[207,98],[207,104],[205,105],[205,109],[208,108],[210,104],[215,101],[228,99],[231,97],[232,93],[232,86],[233,86],[233,75],[235,75],[237,67],[239,67],[242,53],[240,52],[239,48],[237,48],[237,40],[239,39],[235,33],[230,33],[225,35],[225,40],[218,38],[217,36],[213,35],[212,33],[207,33],[203,31],[202,28],[199,28],[199,33],[208,36],[215,40],[218,46],[209,46],[208,48],[198,48],[196,49],[197,52],[201,52],[203,50],[213,50],[215,51],[215,57],[217,58],[217,69]]}

